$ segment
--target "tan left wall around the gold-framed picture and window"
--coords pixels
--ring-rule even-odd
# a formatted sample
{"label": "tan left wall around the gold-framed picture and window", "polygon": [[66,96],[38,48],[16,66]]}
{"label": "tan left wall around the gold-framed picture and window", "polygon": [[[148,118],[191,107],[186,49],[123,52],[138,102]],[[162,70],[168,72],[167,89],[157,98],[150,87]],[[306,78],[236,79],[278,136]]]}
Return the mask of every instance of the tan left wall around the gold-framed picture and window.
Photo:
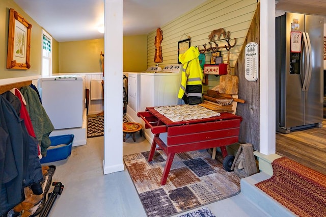
{"label": "tan left wall around the gold-framed picture and window", "polygon": [[[8,48],[8,26],[9,26],[9,9],[13,8],[24,19],[32,24],[31,29],[31,53],[30,64],[31,68],[28,70],[7,69],[7,48]],[[27,15],[13,0],[0,1],[0,79],[25,77],[41,75],[41,51],[42,51],[42,28],[29,15]],[[58,53],[56,53],[56,40],[53,39],[54,51],[53,55],[53,69],[58,67]]]}

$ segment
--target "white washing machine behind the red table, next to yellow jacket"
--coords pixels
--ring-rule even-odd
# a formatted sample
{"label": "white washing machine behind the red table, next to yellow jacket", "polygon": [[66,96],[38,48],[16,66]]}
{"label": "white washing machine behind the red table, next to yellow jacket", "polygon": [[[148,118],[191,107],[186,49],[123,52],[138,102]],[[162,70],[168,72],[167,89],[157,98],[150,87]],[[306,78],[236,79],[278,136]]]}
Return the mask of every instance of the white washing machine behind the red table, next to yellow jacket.
{"label": "white washing machine behind the red table, next to yellow jacket", "polygon": [[[145,111],[146,107],[182,104],[178,98],[181,72],[180,64],[168,65],[159,72],[142,72],[140,111]],[[145,137],[151,143],[153,134],[150,129],[145,129],[144,121],[142,123]]]}

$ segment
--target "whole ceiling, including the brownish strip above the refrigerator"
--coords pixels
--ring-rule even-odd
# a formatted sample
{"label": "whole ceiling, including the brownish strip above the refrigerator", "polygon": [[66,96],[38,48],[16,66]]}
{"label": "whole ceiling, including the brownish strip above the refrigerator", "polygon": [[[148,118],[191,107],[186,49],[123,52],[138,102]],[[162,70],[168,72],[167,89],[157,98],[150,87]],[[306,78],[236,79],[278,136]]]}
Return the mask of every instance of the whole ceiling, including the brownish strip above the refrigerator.
{"label": "whole ceiling, including the brownish strip above the refrigerator", "polygon": [[[58,42],[102,38],[104,0],[14,0]],[[206,0],[123,0],[123,35],[143,35]],[[278,0],[276,10],[326,16],[326,0]]]}

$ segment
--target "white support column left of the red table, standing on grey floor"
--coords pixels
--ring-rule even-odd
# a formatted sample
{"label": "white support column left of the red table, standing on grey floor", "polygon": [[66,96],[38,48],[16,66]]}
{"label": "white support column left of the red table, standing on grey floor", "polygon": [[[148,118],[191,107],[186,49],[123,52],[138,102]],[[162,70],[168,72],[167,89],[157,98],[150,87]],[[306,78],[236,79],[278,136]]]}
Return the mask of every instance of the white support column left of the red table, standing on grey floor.
{"label": "white support column left of the red table, standing on grey floor", "polygon": [[104,0],[104,174],[123,171],[122,0]]}

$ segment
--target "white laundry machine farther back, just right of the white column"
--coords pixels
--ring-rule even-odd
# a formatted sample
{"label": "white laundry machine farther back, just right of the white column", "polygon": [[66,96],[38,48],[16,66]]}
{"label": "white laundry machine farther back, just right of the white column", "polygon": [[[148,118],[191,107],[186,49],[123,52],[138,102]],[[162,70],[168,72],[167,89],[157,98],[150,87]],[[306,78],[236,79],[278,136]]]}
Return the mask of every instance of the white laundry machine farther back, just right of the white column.
{"label": "white laundry machine farther back, just right of the white column", "polygon": [[[161,71],[161,67],[152,66],[146,71],[154,72]],[[128,104],[126,117],[131,122],[141,123],[142,119],[137,116],[141,106],[141,72],[126,72],[128,73]]]}

